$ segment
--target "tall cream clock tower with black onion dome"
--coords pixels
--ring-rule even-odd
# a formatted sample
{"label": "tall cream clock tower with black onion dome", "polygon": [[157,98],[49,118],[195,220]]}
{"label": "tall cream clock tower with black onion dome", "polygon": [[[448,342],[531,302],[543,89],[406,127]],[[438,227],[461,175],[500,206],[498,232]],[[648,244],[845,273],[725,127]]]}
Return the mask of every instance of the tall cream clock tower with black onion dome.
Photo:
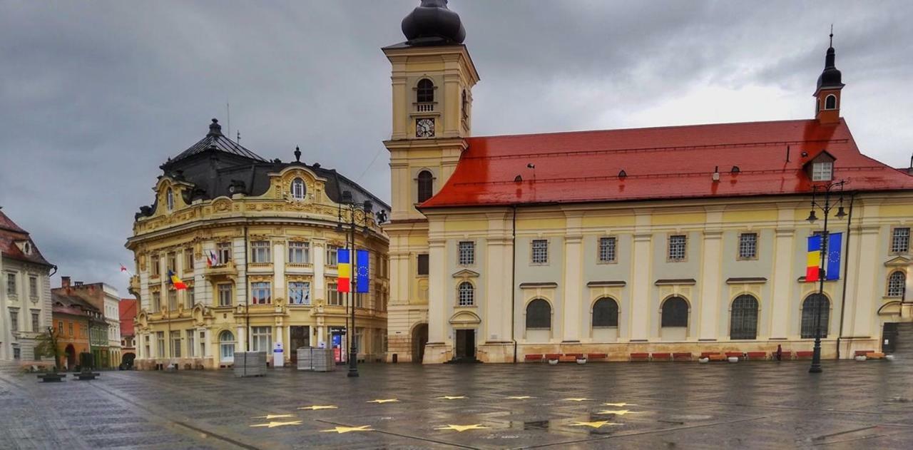
{"label": "tall cream clock tower with black onion dome", "polygon": [[[456,169],[472,131],[478,74],[463,44],[466,30],[446,0],[422,0],[403,19],[406,40],[383,47],[392,66],[390,151],[393,210],[388,360],[422,361],[428,341],[428,223],[419,205]],[[435,344],[436,342],[431,342]]]}

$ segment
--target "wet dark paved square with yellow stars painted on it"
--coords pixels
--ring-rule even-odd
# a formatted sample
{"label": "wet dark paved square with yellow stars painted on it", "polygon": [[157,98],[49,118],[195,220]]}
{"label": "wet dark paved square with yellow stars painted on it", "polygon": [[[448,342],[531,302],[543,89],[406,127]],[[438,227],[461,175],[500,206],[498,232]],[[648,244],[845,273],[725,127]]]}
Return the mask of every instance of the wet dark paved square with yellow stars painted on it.
{"label": "wet dark paved square with yellow stars painted on it", "polygon": [[0,448],[913,447],[913,361],[339,369],[4,372]]}

